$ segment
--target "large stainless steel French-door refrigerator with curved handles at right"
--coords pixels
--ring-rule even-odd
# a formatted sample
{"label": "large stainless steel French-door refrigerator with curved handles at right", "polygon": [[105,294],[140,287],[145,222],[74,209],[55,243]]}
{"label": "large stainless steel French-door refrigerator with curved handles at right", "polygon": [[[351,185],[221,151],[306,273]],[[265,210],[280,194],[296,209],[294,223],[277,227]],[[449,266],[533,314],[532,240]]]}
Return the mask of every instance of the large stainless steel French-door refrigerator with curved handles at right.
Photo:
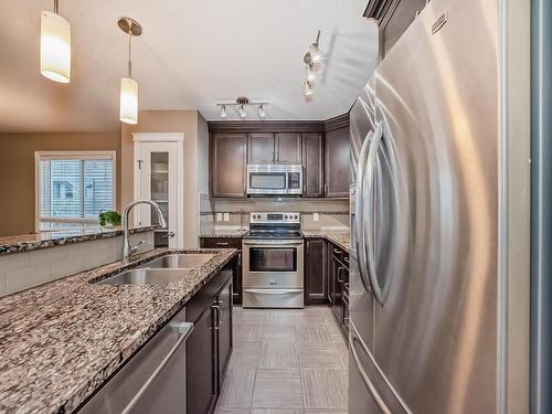
{"label": "large stainless steel French-door refrigerator with curved handles at right", "polygon": [[497,412],[497,3],[432,0],[351,109],[351,414]]}

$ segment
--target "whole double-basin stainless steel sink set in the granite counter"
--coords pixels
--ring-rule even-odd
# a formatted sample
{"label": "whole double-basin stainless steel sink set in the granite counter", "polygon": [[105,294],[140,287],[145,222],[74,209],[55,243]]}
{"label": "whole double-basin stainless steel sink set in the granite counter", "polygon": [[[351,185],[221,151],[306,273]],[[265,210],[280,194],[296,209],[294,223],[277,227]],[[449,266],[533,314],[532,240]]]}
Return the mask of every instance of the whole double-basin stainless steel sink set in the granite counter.
{"label": "whole double-basin stainless steel sink set in the granite counter", "polygon": [[169,254],[145,263],[140,267],[91,283],[95,285],[168,285],[184,279],[214,256],[214,254],[201,253]]}

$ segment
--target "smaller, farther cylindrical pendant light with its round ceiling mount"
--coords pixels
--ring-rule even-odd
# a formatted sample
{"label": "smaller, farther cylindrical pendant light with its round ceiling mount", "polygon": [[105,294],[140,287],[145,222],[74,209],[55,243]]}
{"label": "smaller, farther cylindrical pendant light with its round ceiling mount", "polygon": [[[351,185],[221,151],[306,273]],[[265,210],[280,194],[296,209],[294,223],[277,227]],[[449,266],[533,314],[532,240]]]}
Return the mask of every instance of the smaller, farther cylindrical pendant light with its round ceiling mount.
{"label": "smaller, farther cylindrical pendant light with its round ceiling mount", "polygon": [[138,83],[132,79],[131,40],[141,34],[141,25],[130,18],[117,22],[120,30],[128,34],[128,77],[120,79],[119,118],[125,124],[138,124]]}

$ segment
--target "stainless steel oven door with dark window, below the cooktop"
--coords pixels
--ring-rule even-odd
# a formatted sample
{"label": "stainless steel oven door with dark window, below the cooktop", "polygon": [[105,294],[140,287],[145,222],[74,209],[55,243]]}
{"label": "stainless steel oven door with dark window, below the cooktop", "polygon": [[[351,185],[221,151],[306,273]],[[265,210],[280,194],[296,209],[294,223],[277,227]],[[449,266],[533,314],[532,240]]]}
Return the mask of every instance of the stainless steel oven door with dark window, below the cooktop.
{"label": "stainless steel oven door with dark window, below the cooktop", "polygon": [[301,288],[302,240],[244,240],[244,288]]}

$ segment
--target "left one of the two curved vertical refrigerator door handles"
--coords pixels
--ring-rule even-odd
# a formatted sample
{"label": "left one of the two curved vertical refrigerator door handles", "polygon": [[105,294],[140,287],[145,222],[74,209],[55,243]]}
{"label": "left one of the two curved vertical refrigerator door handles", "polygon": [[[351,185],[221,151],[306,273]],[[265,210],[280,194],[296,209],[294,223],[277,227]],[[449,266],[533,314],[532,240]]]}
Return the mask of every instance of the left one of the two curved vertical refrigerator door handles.
{"label": "left one of the two curved vertical refrigerator door handles", "polygon": [[370,280],[367,275],[367,269],[368,269],[368,264],[367,264],[367,257],[365,257],[365,251],[364,251],[364,232],[363,232],[363,188],[364,188],[364,173],[365,173],[365,163],[368,161],[368,155],[369,155],[369,148],[370,148],[370,142],[372,141],[372,136],[373,132],[370,131],[368,132],[367,137],[364,138],[364,141],[362,142],[362,147],[360,149],[360,155],[359,155],[359,166],[357,170],[357,198],[355,198],[355,211],[354,211],[354,227],[353,232],[357,233],[357,236],[354,237],[355,240],[355,247],[357,247],[357,254],[359,256],[359,275],[360,279],[362,282],[362,285],[364,285],[364,289],[367,291],[372,291],[370,288]]}

